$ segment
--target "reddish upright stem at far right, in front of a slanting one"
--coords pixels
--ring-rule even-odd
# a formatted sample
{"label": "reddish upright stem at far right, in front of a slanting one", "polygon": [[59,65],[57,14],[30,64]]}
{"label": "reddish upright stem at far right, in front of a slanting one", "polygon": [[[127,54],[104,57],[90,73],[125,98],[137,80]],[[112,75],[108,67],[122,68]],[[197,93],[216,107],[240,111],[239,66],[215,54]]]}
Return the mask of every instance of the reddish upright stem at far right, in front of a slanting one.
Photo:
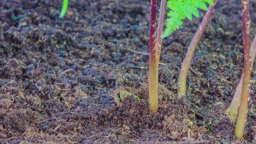
{"label": "reddish upright stem at far right, in front of a slanting one", "polygon": [[235,135],[238,139],[243,137],[243,132],[247,119],[248,102],[250,100],[250,79],[251,79],[251,54],[250,54],[250,14],[249,0],[242,1],[242,20],[243,20],[243,43],[244,43],[244,76],[241,93],[241,103],[238,111],[238,119],[236,123]]}

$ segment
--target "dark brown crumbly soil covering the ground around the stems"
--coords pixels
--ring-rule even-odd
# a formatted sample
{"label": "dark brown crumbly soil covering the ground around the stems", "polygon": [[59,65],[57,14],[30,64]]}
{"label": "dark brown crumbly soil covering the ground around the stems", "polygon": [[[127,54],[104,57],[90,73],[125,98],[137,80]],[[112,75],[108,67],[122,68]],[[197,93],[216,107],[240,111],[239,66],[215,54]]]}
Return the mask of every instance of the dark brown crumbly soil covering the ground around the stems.
{"label": "dark brown crumbly soil covering the ground around the stems", "polygon": [[[256,0],[250,8],[254,37]],[[60,9],[61,0],[0,2],[0,144],[239,143],[225,110],[243,67],[240,0],[219,0],[183,100],[177,77],[201,18],[164,40],[155,115],[147,107],[149,1],[70,0],[64,19]],[[117,105],[118,88],[141,101]],[[249,108],[244,144],[256,143],[256,66]]]}

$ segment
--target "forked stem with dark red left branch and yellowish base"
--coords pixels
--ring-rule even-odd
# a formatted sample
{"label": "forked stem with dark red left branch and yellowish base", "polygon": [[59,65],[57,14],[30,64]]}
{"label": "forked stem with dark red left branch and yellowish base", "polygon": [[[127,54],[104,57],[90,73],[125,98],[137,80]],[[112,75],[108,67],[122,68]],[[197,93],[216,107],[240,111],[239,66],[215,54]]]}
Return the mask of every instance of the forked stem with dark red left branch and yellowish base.
{"label": "forked stem with dark red left branch and yellowish base", "polygon": [[149,110],[151,113],[156,113],[158,110],[158,66],[162,47],[165,9],[166,0],[161,0],[158,26],[155,33],[156,0],[151,0],[151,20],[149,30]]}

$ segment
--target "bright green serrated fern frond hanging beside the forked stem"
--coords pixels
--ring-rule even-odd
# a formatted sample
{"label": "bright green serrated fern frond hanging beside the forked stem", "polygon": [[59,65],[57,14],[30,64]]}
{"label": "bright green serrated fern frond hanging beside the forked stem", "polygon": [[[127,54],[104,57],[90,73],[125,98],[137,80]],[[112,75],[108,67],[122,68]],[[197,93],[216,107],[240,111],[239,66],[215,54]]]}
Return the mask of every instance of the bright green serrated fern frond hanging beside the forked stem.
{"label": "bright green serrated fern frond hanging beside the forked stem", "polygon": [[167,13],[168,18],[162,37],[170,36],[182,27],[185,18],[192,20],[193,15],[199,17],[198,9],[207,10],[207,4],[214,5],[212,0],[168,0],[167,7],[170,11]]}

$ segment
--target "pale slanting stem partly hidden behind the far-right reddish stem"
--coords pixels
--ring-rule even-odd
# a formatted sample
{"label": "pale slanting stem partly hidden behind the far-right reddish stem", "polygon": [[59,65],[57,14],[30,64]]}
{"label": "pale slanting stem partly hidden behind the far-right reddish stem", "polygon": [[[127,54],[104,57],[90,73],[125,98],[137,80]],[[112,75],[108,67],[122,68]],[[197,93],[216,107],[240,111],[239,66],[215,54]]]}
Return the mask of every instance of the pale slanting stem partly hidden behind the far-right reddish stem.
{"label": "pale slanting stem partly hidden behind the far-right reddish stem", "polygon": [[[254,61],[255,61],[255,57],[256,57],[256,35],[255,35],[255,38],[253,40],[253,45],[252,45],[250,53],[251,53],[251,57],[252,57],[251,58],[252,59],[251,69],[252,69]],[[244,73],[241,76],[241,79],[240,79],[239,84],[236,88],[236,92],[235,92],[234,97],[231,101],[231,104],[230,104],[229,108],[227,109],[227,115],[228,115],[228,117],[229,117],[229,119],[232,123],[236,122],[236,118],[238,116],[238,108],[240,106],[243,79],[244,79]]]}

